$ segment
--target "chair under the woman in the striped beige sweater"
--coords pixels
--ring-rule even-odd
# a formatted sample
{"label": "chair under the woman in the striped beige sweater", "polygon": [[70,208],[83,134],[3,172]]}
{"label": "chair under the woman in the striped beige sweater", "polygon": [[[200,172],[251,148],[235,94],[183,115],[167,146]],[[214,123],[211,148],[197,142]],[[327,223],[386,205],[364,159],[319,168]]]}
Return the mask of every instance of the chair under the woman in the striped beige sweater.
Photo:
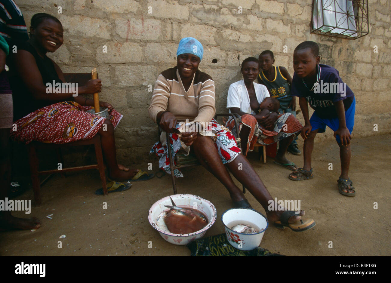
{"label": "chair under the woman in the striped beige sweater", "polygon": [[[236,143],[238,145],[238,147],[240,149],[241,148],[241,145],[240,145],[240,138],[239,138],[239,123],[240,123],[240,115],[237,114],[237,113],[229,113],[229,114],[216,114],[215,115],[215,119],[218,117],[218,116],[232,116],[234,121],[235,121],[235,128],[236,128]],[[160,130],[159,129],[159,137],[160,137]],[[197,166],[197,165],[201,165],[201,163],[199,163],[197,157],[195,157],[194,154],[189,154],[188,156],[185,156],[181,153],[177,153],[175,155],[175,163],[174,163],[174,160],[172,158],[172,152],[171,152],[171,144],[169,142],[169,133],[166,133],[166,138],[167,138],[167,151],[169,152],[169,159],[170,159],[170,172],[171,172],[171,181],[172,181],[172,189],[174,190],[174,195],[177,194],[177,190],[176,190],[176,183],[175,183],[175,176],[174,174],[172,174],[172,172],[174,172],[175,169],[180,169],[180,168],[185,168],[185,167],[190,167],[190,166]],[[243,186],[243,193],[246,193],[246,188]]]}

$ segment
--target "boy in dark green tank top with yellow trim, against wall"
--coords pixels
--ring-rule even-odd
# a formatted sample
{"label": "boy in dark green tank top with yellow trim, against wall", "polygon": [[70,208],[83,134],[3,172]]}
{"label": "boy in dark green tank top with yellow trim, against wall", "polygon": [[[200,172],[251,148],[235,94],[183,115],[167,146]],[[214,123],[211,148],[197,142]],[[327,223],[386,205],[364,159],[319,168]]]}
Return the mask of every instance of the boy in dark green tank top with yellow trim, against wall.
{"label": "boy in dark green tank top with yellow trim, against wall", "polygon": [[[296,97],[291,96],[292,77],[286,68],[273,66],[274,54],[270,50],[262,51],[259,55],[259,66],[261,72],[258,74],[258,83],[266,86],[271,97],[278,99],[280,109],[278,112],[291,113],[296,117]],[[297,136],[294,137],[287,151],[300,155],[301,152],[297,145]]]}

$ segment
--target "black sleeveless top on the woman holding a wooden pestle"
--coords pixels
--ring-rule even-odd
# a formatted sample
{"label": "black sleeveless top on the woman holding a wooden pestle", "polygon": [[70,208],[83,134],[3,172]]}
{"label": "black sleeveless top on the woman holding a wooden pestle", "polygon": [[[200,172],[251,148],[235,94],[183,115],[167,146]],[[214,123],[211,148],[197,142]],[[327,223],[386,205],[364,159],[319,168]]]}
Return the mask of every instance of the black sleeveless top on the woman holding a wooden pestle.
{"label": "black sleeveless top on the woman holding a wooden pestle", "polygon": [[[38,70],[41,73],[43,84],[46,86],[48,82],[53,84],[53,81],[62,83],[63,81],[57,75],[56,69],[52,60],[46,55],[42,58],[38,55],[35,48],[28,42],[23,42],[17,45],[17,50],[26,50],[34,56],[38,66]],[[25,75],[29,75],[26,73]],[[29,88],[25,85],[19,75],[9,78],[11,89],[13,92],[14,103],[14,121],[23,118],[24,116],[38,110],[42,107],[64,101],[62,100],[37,100],[34,99]],[[67,101],[74,101],[74,97],[69,97]]]}

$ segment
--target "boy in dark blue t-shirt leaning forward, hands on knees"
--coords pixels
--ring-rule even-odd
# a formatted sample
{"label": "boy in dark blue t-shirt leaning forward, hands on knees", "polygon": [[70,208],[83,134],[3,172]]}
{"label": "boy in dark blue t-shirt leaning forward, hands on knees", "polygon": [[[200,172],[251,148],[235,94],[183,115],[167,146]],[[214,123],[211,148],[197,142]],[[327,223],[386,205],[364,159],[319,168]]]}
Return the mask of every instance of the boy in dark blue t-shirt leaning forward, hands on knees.
{"label": "boy in dark blue t-shirt leaning forward, hands on knees", "polygon": [[[300,43],[293,53],[294,75],[291,95],[299,97],[305,125],[301,130],[304,139],[304,167],[289,174],[289,179],[301,181],[311,179],[311,154],[316,133],[324,133],[326,126],[334,131],[339,145],[341,176],[339,192],[353,197],[355,190],[348,177],[351,133],[354,125],[355,97],[353,91],[339,77],[335,68],[319,64],[319,47],[313,41]],[[315,110],[308,118],[308,104]]]}

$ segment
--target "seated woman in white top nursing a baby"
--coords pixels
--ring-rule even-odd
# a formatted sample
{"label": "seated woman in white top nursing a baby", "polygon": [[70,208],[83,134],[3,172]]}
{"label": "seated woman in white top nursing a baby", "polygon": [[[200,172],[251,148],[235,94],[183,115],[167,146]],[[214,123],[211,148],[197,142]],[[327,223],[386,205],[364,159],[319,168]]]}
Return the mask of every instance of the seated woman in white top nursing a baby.
{"label": "seated woman in white top nursing a baby", "polygon": [[[265,98],[270,97],[267,88],[254,82],[259,73],[258,59],[255,57],[244,59],[240,72],[243,80],[230,85],[227,108],[231,113],[241,115],[242,123],[239,131],[244,154],[246,155],[248,150],[253,150],[255,143],[268,145],[279,141],[280,146],[274,162],[289,170],[297,170],[298,167],[285,157],[285,152],[294,134],[300,132],[303,126],[290,113],[279,115],[275,111],[265,112],[266,108],[273,110],[275,107],[271,105],[272,102],[264,101]],[[259,110],[261,113],[258,113]],[[228,120],[226,125],[231,131],[235,131],[232,119]]]}

